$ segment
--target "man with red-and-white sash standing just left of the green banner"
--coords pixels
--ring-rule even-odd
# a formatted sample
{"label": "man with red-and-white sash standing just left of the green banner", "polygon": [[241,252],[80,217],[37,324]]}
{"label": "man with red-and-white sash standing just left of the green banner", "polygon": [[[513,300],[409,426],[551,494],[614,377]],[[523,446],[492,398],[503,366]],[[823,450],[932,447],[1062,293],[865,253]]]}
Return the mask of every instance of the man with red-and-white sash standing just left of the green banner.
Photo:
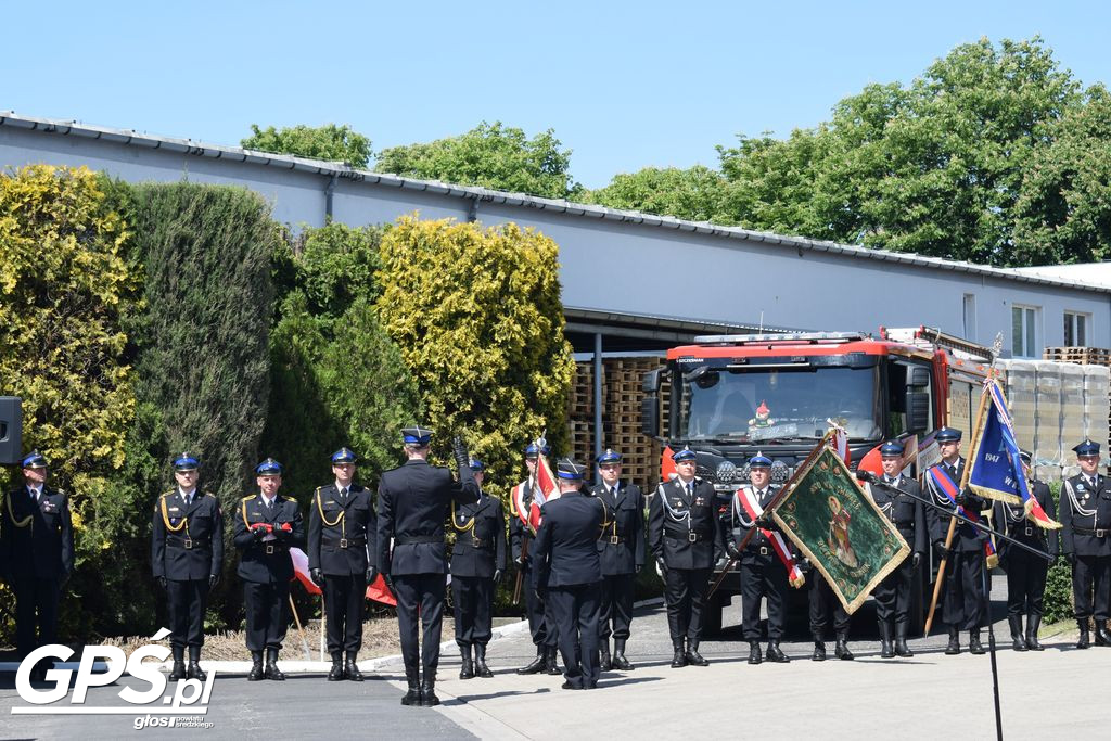
{"label": "man with red-and-white sash standing just left of the green banner", "polygon": [[[787,565],[777,553],[771,538],[778,531],[769,522],[760,522],[760,515],[775,498],[779,487],[771,484],[771,459],[757,453],[749,459],[749,484],[738,490],[733,498],[733,518],[737,541],[729,541],[729,557],[741,564],[741,633],[749,642],[749,663],[758,664],[760,655],[760,600],[768,601],[768,661],[787,663],[790,661],[779,647],[787,622]],[[748,503],[745,503],[748,498]],[[749,538],[744,550],[739,545],[749,530],[757,531]],[[769,537],[770,535],[770,537]],[[784,541],[785,542],[785,541]]]}

